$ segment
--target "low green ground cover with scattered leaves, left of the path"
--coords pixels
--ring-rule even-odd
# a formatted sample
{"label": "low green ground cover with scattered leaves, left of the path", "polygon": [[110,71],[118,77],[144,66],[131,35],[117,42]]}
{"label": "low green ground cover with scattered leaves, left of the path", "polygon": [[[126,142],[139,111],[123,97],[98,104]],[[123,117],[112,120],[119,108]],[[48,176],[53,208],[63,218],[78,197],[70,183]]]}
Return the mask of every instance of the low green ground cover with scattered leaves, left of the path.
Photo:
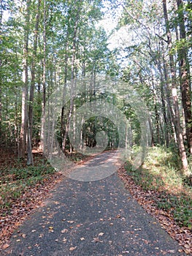
{"label": "low green ground cover with scattered leaves, left of the path", "polygon": [[1,170],[0,210],[4,214],[9,211],[12,203],[29,187],[43,184],[55,170],[49,164],[39,163],[30,167],[5,167]]}

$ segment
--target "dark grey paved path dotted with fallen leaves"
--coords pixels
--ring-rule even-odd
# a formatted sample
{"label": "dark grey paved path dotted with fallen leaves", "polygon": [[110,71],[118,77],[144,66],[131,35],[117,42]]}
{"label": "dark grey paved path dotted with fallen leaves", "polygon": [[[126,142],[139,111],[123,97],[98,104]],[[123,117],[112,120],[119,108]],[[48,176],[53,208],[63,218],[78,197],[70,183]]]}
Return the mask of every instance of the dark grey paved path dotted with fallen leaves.
{"label": "dark grey paved path dotted with fallen leaves", "polygon": [[[102,154],[85,165],[98,166],[109,157]],[[185,255],[117,173],[99,181],[65,178],[15,231],[8,249],[15,256]]]}

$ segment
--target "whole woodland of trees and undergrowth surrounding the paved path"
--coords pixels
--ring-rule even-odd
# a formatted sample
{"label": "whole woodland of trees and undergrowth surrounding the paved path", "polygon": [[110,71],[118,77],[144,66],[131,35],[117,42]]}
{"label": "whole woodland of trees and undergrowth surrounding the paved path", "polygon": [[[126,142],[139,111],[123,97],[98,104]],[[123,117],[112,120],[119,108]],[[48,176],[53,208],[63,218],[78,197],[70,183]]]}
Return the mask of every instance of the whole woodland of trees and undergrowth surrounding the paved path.
{"label": "whole woodland of trees and undergrowth surrounding the paved path", "polygon": [[[115,25],[107,25],[107,19]],[[124,42],[117,43],[121,37]],[[131,124],[131,157],[123,172],[134,182],[133,194],[137,191],[140,201],[153,197],[170,226],[176,225],[169,233],[192,252],[186,238],[192,228],[191,45],[189,0],[0,0],[0,211],[8,219],[1,222],[1,236],[12,233],[10,223],[23,195],[42,197],[38,188],[61,176],[44,151],[46,102],[59,88],[70,97],[55,127],[48,122],[50,138],[56,136],[72,161],[90,158],[69,138],[72,118],[85,102],[115,105]],[[96,91],[101,76],[133,88],[147,106],[151,140],[138,170],[131,169],[142,137],[137,113],[118,94]],[[86,80],[87,88],[75,96],[76,80]],[[108,138],[104,150],[118,148],[120,136],[110,118],[80,121],[80,148],[95,148],[102,131]]]}

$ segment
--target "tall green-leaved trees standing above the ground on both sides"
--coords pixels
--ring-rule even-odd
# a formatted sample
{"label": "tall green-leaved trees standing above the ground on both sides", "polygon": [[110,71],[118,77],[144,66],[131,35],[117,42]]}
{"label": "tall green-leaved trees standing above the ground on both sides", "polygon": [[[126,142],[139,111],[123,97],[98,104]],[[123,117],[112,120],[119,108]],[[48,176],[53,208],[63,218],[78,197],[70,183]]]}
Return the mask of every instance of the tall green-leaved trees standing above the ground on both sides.
{"label": "tall green-leaved trees standing above the ground on both sides", "polygon": [[[126,44],[114,50],[108,47],[112,35],[97,26],[106,2],[109,12],[122,10],[115,31],[122,34],[127,29]],[[59,86],[73,91],[75,84],[69,88],[69,80],[90,78],[87,92],[71,97],[55,127],[62,150],[72,152],[72,114],[83,102],[98,98],[94,86],[103,74],[139,91],[150,110],[151,146],[177,148],[183,174],[189,173],[191,1],[1,0],[0,8],[1,147],[12,148],[20,158],[27,153],[28,165],[33,165],[32,148],[43,136],[47,99]],[[139,144],[140,127],[131,106],[115,95],[99,95],[103,97],[131,119],[131,143]],[[117,129],[110,120],[97,117],[85,121],[85,145],[96,146],[96,132],[102,130],[110,138],[108,146],[117,148]]]}

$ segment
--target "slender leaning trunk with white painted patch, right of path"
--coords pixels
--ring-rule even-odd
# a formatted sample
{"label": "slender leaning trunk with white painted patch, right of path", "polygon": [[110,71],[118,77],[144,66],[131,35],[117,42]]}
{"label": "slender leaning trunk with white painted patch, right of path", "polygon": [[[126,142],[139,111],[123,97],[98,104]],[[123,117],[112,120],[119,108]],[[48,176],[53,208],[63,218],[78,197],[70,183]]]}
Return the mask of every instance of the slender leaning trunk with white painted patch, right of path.
{"label": "slender leaning trunk with white painted patch, right of path", "polygon": [[178,105],[178,99],[177,99],[177,79],[176,79],[176,72],[174,69],[174,56],[171,52],[172,50],[172,35],[171,31],[169,29],[169,18],[166,8],[166,0],[163,0],[163,8],[164,8],[164,20],[166,24],[166,36],[167,36],[167,42],[168,42],[168,48],[169,48],[169,64],[171,69],[171,76],[172,76],[172,100],[173,100],[173,106],[174,106],[174,124],[176,127],[176,133],[177,133],[177,140],[178,140],[178,146],[180,150],[180,157],[182,160],[183,165],[183,174],[188,174],[188,159],[185,152],[185,146],[183,142],[183,134],[182,129],[180,127],[180,111],[179,111],[179,105]]}

